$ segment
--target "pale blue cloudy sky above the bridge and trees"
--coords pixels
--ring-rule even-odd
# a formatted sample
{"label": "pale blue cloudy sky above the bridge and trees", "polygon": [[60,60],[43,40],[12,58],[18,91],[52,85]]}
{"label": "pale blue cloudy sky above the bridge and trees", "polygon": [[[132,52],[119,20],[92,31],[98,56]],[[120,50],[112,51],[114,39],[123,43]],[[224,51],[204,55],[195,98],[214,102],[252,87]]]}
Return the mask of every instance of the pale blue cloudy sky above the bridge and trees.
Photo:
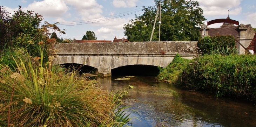
{"label": "pale blue cloudy sky above the bridge and trees", "polygon": [[[196,0],[205,23],[214,19],[230,19],[256,28],[255,0]],[[44,17],[49,23],[59,22],[66,34],[60,38],[81,40],[86,31],[94,31],[97,40],[121,39],[124,36],[124,24],[141,15],[143,6],[154,6],[154,0],[0,0],[0,5],[13,14],[18,10],[32,10]],[[229,12],[228,12],[229,10]],[[43,21],[43,22],[44,22]],[[42,22],[42,23],[43,23]],[[163,23],[163,22],[162,22]],[[208,27],[217,28],[222,23]],[[59,33],[57,33],[59,35]],[[126,37],[125,37],[126,38]]]}

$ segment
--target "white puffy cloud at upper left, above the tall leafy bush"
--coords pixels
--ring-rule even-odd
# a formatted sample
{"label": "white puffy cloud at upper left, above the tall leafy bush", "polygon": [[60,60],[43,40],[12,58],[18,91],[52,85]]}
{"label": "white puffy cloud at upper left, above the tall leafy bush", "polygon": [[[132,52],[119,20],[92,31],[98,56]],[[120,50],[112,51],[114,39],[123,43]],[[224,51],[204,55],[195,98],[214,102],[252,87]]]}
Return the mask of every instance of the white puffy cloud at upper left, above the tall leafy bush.
{"label": "white puffy cloud at upper left, above the tall leafy bush", "polygon": [[25,10],[33,10],[46,17],[59,17],[67,12],[68,6],[62,0],[43,0],[34,1]]}

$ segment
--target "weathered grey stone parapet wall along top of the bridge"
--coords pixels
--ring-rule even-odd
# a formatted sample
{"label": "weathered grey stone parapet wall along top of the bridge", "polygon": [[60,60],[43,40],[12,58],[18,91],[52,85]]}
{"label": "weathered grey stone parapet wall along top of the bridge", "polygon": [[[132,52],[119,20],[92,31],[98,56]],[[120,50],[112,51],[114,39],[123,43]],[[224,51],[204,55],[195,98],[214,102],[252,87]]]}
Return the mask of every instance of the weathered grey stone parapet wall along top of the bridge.
{"label": "weathered grey stone parapet wall along top of the bridge", "polygon": [[58,54],[160,54],[194,53],[197,42],[96,42],[60,43],[55,49]]}

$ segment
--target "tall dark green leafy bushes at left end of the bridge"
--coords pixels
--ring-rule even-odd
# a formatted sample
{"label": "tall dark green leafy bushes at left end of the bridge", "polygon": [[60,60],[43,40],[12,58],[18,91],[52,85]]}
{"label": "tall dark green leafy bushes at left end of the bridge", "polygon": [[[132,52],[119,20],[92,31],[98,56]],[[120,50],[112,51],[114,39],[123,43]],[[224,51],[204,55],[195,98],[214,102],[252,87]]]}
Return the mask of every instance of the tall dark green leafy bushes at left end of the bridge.
{"label": "tall dark green leafy bushes at left end of the bridge", "polygon": [[[33,15],[33,11],[29,10],[24,12],[21,10],[21,6],[19,6],[19,9],[14,12],[12,18],[6,20],[8,36],[2,39],[5,45],[0,47],[2,49],[0,64],[8,65],[11,69],[15,69],[12,56],[14,58],[23,58],[25,51],[28,51],[32,57],[40,56],[40,45],[44,49],[52,49],[56,40],[48,40],[50,35],[49,29],[57,30],[62,34],[65,34],[65,32],[56,27],[56,24],[49,24],[48,22],[45,22],[45,25],[39,28],[42,20],[43,17],[41,15]],[[53,53],[54,51],[52,50],[51,52]],[[43,55],[46,57],[48,54],[49,52],[44,52]],[[45,60],[47,61],[47,59]]]}

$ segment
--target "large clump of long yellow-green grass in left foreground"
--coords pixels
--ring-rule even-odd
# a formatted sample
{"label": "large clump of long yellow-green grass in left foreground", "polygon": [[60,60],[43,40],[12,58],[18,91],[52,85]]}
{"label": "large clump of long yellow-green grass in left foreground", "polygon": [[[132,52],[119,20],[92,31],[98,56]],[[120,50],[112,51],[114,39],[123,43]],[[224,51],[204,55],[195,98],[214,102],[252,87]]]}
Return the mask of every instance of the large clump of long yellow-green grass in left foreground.
{"label": "large clump of long yellow-green grass in left foreground", "polygon": [[28,63],[23,63],[21,59],[15,61],[16,71],[8,66],[0,67],[1,127],[124,124],[122,120],[116,121],[114,114],[121,102],[116,96],[122,93],[108,93],[95,86],[96,80],[81,77],[76,71],[64,71],[59,66],[49,69],[47,65],[32,65],[29,55],[27,58]]}

